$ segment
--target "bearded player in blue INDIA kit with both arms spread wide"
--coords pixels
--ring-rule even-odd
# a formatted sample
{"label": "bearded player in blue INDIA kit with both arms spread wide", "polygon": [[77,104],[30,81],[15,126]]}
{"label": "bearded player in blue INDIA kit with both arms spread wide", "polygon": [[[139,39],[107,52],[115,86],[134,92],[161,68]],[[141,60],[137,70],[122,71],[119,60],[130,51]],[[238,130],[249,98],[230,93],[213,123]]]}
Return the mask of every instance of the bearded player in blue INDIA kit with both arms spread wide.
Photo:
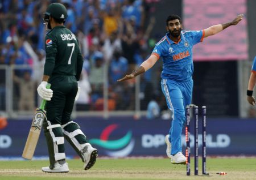
{"label": "bearded player in blue INDIA kit with both arms spread wide", "polygon": [[185,123],[185,106],[191,104],[193,90],[192,48],[204,38],[216,35],[230,25],[237,25],[243,18],[238,15],[232,22],[213,25],[201,31],[182,31],[181,18],[170,15],[166,20],[166,35],[155,45],[146,61],[123,80],[135,78],[150,69],[162,57],[163,71],[161,86],[168,108],[172,112],[170,132],[166,135],[167,156],[174,164],[185,164],[186,157],[181,148],[181,131]]}

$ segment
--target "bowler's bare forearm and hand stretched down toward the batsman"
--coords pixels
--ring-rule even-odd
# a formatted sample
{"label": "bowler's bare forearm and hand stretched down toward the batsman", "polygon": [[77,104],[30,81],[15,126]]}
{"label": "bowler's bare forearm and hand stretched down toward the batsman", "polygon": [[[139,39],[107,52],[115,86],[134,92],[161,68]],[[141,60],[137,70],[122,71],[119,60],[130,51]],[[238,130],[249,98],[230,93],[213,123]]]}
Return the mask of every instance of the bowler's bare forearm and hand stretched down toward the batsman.
{"label": "bowler's bare forearm and hand stretched down toward the batsman", "polygon": [[124,80],[128,80],[128,79],[133,79],[136,76],[146,72],[147,70],[149,70],[152,66],[155,65],[156,61],[158,61],[158,57],[155,54],[151,54],[150,57],[144,61],[141,66],[139,66],[139,68],[137,68],[137,70],[133,70],[131,72],[131,74],[126,75],[125,77],[123,77],[122,79],[118,79],[118,82],[122,82]]}

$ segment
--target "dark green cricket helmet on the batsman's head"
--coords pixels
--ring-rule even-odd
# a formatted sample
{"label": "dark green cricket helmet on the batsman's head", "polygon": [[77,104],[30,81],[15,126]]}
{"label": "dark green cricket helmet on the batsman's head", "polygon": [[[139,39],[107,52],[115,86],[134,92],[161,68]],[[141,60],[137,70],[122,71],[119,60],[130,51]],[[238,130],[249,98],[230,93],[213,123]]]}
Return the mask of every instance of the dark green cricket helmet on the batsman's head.
{"label": "dark green cricket helmet on the batsman's head", "polygon": [[68,17],[67,8],[61,3],[51,3],[44,13],[44,21],[49,22],[49,16],[54,19],[63,20],[63,23]]}

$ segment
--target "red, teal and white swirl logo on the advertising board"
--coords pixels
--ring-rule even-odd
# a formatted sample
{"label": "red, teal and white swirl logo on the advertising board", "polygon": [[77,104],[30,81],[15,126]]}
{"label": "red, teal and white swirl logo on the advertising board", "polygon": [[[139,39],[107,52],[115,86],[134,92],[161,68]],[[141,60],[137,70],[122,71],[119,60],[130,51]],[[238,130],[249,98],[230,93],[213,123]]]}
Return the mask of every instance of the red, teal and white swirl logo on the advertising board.
{"label": "red, teal and white swirl logo on the advertising board", "polygon": [[125,157],[133,151],[135,140],[132,131],[128,131],[123,137],[109,140],[110,134],[118,128],[117,124],[109,125],[101,132],[100,139],[90,139],[90,144],[96,144],[105,149],[105,153],[111,157]]}

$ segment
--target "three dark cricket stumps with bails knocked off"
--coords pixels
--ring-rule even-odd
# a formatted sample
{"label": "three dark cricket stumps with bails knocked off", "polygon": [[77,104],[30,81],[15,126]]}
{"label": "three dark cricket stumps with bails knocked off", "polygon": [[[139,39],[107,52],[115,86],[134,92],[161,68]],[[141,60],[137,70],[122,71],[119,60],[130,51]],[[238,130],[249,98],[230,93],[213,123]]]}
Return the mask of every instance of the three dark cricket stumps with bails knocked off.
{"label": "three dark cricket stumps with bails knocked off", "polygon": [[[196,105],[188,105],[186,106],[186,114],[187,114],[187,123],[185,127],[185,140],[186,140],[186,157],[187,157],[187,175],[191,174],[190,168],[190,155],[191,155],[191,148],[190,148],[190,122],[191,122],[191,117],[190,117],[190,110],[193,110],[192,113],[194,113],[193,119],[194,119],[194,124],[195,124],[195,129],[194,129],[194,154],[195,154],[195,175],[198,175],[198,159],[199,159],[199,152],[198,152],[198,127],[199,127],[199,119],[198,119],[198,114],[199,114],[199,108]],[[202,173],[204,175],[208,175],[206,172],[206,106],[202,106]]]}

